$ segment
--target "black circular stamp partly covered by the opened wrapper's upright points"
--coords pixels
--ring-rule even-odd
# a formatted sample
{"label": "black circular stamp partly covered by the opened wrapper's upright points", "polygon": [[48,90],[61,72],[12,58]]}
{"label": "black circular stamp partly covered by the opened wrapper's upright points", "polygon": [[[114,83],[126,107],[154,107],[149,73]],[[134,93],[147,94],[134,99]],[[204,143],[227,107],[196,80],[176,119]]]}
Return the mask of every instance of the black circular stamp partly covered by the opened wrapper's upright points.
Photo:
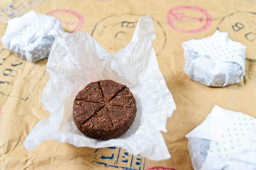
{"label": "black circular stamp partly covered by the opened wrapper's upright points", "polygon": [[[131,42],[140,16],[136,14],[111,15],[101,19],[92,31],[92,37],[110,54],[119,51]],[[156,55],[165,47],[166,34],[161,23],[152,18],[156,39],[152,41]]]}

